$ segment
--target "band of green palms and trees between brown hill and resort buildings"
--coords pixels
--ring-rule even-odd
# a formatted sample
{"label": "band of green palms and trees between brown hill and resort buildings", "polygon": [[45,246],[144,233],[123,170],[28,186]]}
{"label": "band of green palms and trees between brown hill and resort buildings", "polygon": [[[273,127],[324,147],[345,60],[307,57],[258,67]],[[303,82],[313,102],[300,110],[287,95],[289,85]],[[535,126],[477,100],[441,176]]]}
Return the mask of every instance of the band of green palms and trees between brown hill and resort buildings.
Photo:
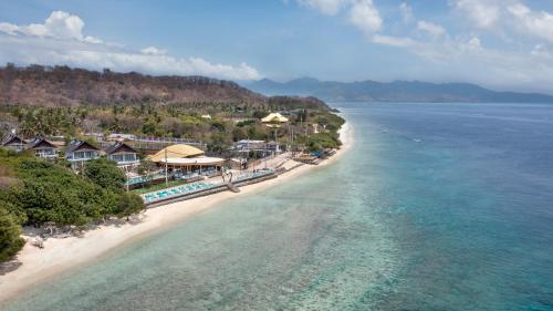
{"label": "band of green palms and trees between brown hill and resort buildings", "polygon": [[[274,141],[274,131],[259,122],[269,112],[283,111],[290,120],[289,124],[276,131],[276,138],[282,144],[290,143],[291,133],[295,136],[294,141],[307,142],[307,136],[313,134],[313,124],[319,125],[320,132],[335,134],[344,122],[342,117],[326,108],[291,111],[289,108],[284,100],[271,100],[263,104],[142,103],[127,106],[87,106],[84,104],[76,107],[3,106],[0,107],[0,115],[19,124],[21,133],[27,137],[41,134],[84,138],[80,137],[80,134],[84,132],[178,137],[206,143],[207,152],[211,154],[222,154],[233,142],[240,139]],[[211,118],[204,118],[202,115],[210,115]],[[325,143],[322,147],[335,145]],[[314,146],[316,144],[311,144],[310,148]]]}

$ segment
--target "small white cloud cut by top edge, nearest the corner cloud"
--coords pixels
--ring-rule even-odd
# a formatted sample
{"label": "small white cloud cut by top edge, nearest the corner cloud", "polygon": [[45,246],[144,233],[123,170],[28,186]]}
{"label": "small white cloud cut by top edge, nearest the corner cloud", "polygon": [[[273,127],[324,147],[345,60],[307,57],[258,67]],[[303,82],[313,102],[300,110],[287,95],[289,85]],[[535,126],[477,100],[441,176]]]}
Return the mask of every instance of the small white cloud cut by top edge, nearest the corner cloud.
{"label": "small white cloud cut by top edge, nearest the corner cloud", "polygon": [[450,3],[467,13],[482,29],[493,27],[500,18],[501,7],[495,0],[451,0]]}

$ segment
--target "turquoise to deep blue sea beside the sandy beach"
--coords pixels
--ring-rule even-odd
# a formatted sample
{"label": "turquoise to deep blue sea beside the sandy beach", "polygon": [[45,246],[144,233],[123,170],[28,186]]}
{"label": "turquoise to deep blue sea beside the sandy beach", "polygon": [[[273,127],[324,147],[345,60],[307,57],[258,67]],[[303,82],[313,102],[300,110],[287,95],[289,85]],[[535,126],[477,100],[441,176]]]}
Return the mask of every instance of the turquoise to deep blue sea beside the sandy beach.
{"label": "turquoise to deep blue sea beside the sandy beach", "polygon": [[335,106],[335,164],[4,310],[553,310],[553,105]]}

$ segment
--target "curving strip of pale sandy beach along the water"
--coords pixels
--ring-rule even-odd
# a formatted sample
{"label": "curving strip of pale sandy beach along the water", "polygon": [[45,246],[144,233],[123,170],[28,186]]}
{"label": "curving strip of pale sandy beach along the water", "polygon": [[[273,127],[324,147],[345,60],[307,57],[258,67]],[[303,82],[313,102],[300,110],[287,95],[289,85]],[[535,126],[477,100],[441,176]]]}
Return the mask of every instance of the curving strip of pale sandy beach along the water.
{"label": "curving strip of pale sandy beach along the water", "polygon": [[332,157],[319,165],[302,165],[278,178],[241,187],[240,193],[223,191],[146,209],[138,216],[137,221],[98,226],[85,231],[82,237],[50,238],[44,241],[43,249],[27,242],[17,256],[21,265],[13,271],[0,276],[0,305],[39,282],[102,258],[117,247],[136,241],[140,237],[170,228],[225,200],[264,190],[335,163],[353,145],[353,128],[348,122],[340,128],[338,133],[342,147]]}

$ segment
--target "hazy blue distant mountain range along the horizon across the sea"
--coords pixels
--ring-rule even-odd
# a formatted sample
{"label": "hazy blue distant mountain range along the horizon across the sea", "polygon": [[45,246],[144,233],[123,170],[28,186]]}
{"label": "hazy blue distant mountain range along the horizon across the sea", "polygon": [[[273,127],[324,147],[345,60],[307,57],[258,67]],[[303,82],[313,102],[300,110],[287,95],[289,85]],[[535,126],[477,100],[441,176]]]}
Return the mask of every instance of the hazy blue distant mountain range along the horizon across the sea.
{"label": "hazy blue distant mountain range along the horizon across the sea", "polygon": [[469,83],[334,82],[303,77],[284,83],[263,79],[244,86],[265,95],[307,95],[330,102],[553,103],[553,95],[495,92]]}

